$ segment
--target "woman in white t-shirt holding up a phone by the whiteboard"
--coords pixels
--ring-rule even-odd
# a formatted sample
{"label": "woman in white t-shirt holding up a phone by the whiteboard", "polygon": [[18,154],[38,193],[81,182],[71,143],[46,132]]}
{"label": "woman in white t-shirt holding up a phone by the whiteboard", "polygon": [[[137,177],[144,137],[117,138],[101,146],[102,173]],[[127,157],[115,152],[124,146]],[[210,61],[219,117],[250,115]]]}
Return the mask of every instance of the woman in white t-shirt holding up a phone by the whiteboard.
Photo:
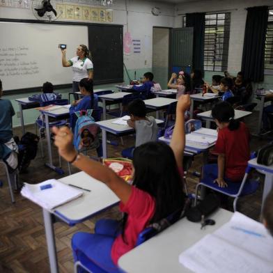
{"label": "woman in white t-shirt holding up a phone by the whiteboard", "polygon": [[77,56],[70,60],[66,60],[66,49],[62,49],[61,62],[63,67],[68,68],[72,66],[73,70],[73,81],[72,81],[72,92],[79,92],[79,81],[84,78],[93,79],[93,63],[89,57],[89,50],[86,45],[79,45],[77,47]]}

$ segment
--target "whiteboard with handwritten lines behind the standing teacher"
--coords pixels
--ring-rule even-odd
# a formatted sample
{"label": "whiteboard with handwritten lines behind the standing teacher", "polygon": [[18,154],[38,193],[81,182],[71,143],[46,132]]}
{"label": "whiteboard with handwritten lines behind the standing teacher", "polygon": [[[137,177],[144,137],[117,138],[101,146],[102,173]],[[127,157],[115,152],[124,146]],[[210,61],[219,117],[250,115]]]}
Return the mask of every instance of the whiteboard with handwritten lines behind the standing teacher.
{"label": "whiteboard with handwritten lines behind the standing teacher", "polygon": [[88,46],[88,27],[0,22],[0,79],[3,90],[71,84],[72,68],[63,68],[59,44],[68,45],[67,59],[78,45]]}

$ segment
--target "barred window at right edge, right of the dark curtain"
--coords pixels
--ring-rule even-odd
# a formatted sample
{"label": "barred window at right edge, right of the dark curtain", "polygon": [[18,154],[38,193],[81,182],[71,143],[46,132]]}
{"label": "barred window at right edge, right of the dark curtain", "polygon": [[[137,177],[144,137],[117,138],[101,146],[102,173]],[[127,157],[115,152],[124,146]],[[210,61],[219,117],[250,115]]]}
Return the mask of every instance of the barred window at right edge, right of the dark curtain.
{"label": "barred window at right edge, right of the dark curtain", "polygon": [[265,37],[265,75],[273,75],[273,10],[269,10]]}

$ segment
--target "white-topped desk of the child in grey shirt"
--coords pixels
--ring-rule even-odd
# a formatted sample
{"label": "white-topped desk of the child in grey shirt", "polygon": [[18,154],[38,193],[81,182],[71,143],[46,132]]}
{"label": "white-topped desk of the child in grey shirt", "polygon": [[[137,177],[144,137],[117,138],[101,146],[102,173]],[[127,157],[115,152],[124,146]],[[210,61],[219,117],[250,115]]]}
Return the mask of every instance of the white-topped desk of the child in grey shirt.
{"label": "white-topped desk of the child in grey shirt", "polygon": [[[123,137],[127,134],[134,133],[134,128],[128,125],[115,124],[113,121],[119,118],[112,118],[110,120],[98,121],[97,124],[102,130],[102,157],[107,158],[107,132],[115,134],[118,137]],[[164,123],[163,120],[155,120],[157,125]]]}

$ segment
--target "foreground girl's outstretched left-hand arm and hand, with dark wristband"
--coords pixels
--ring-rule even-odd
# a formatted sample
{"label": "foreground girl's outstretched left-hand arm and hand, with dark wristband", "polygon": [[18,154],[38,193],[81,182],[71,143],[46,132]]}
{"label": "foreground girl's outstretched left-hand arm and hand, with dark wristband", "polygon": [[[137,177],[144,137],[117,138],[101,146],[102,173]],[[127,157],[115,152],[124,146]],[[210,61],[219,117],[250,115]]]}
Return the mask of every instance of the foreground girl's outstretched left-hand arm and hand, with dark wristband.
{"label": "foreground girl's outstretched left-hand arm and hand, with dark wristband", "polygon": [[125,180],[116,175],[109,167],[96,162],[85,155],[77,154],[72,145],[73,134],[68,127],[52,128],[55,134],[55,145],[59,149],[59,154],[68,162],[73,161],[73,165],[81,171],[86,172],[89,176],[100,180],[107,185],[123,203],[126,203],[132,192],[132,186]]}

